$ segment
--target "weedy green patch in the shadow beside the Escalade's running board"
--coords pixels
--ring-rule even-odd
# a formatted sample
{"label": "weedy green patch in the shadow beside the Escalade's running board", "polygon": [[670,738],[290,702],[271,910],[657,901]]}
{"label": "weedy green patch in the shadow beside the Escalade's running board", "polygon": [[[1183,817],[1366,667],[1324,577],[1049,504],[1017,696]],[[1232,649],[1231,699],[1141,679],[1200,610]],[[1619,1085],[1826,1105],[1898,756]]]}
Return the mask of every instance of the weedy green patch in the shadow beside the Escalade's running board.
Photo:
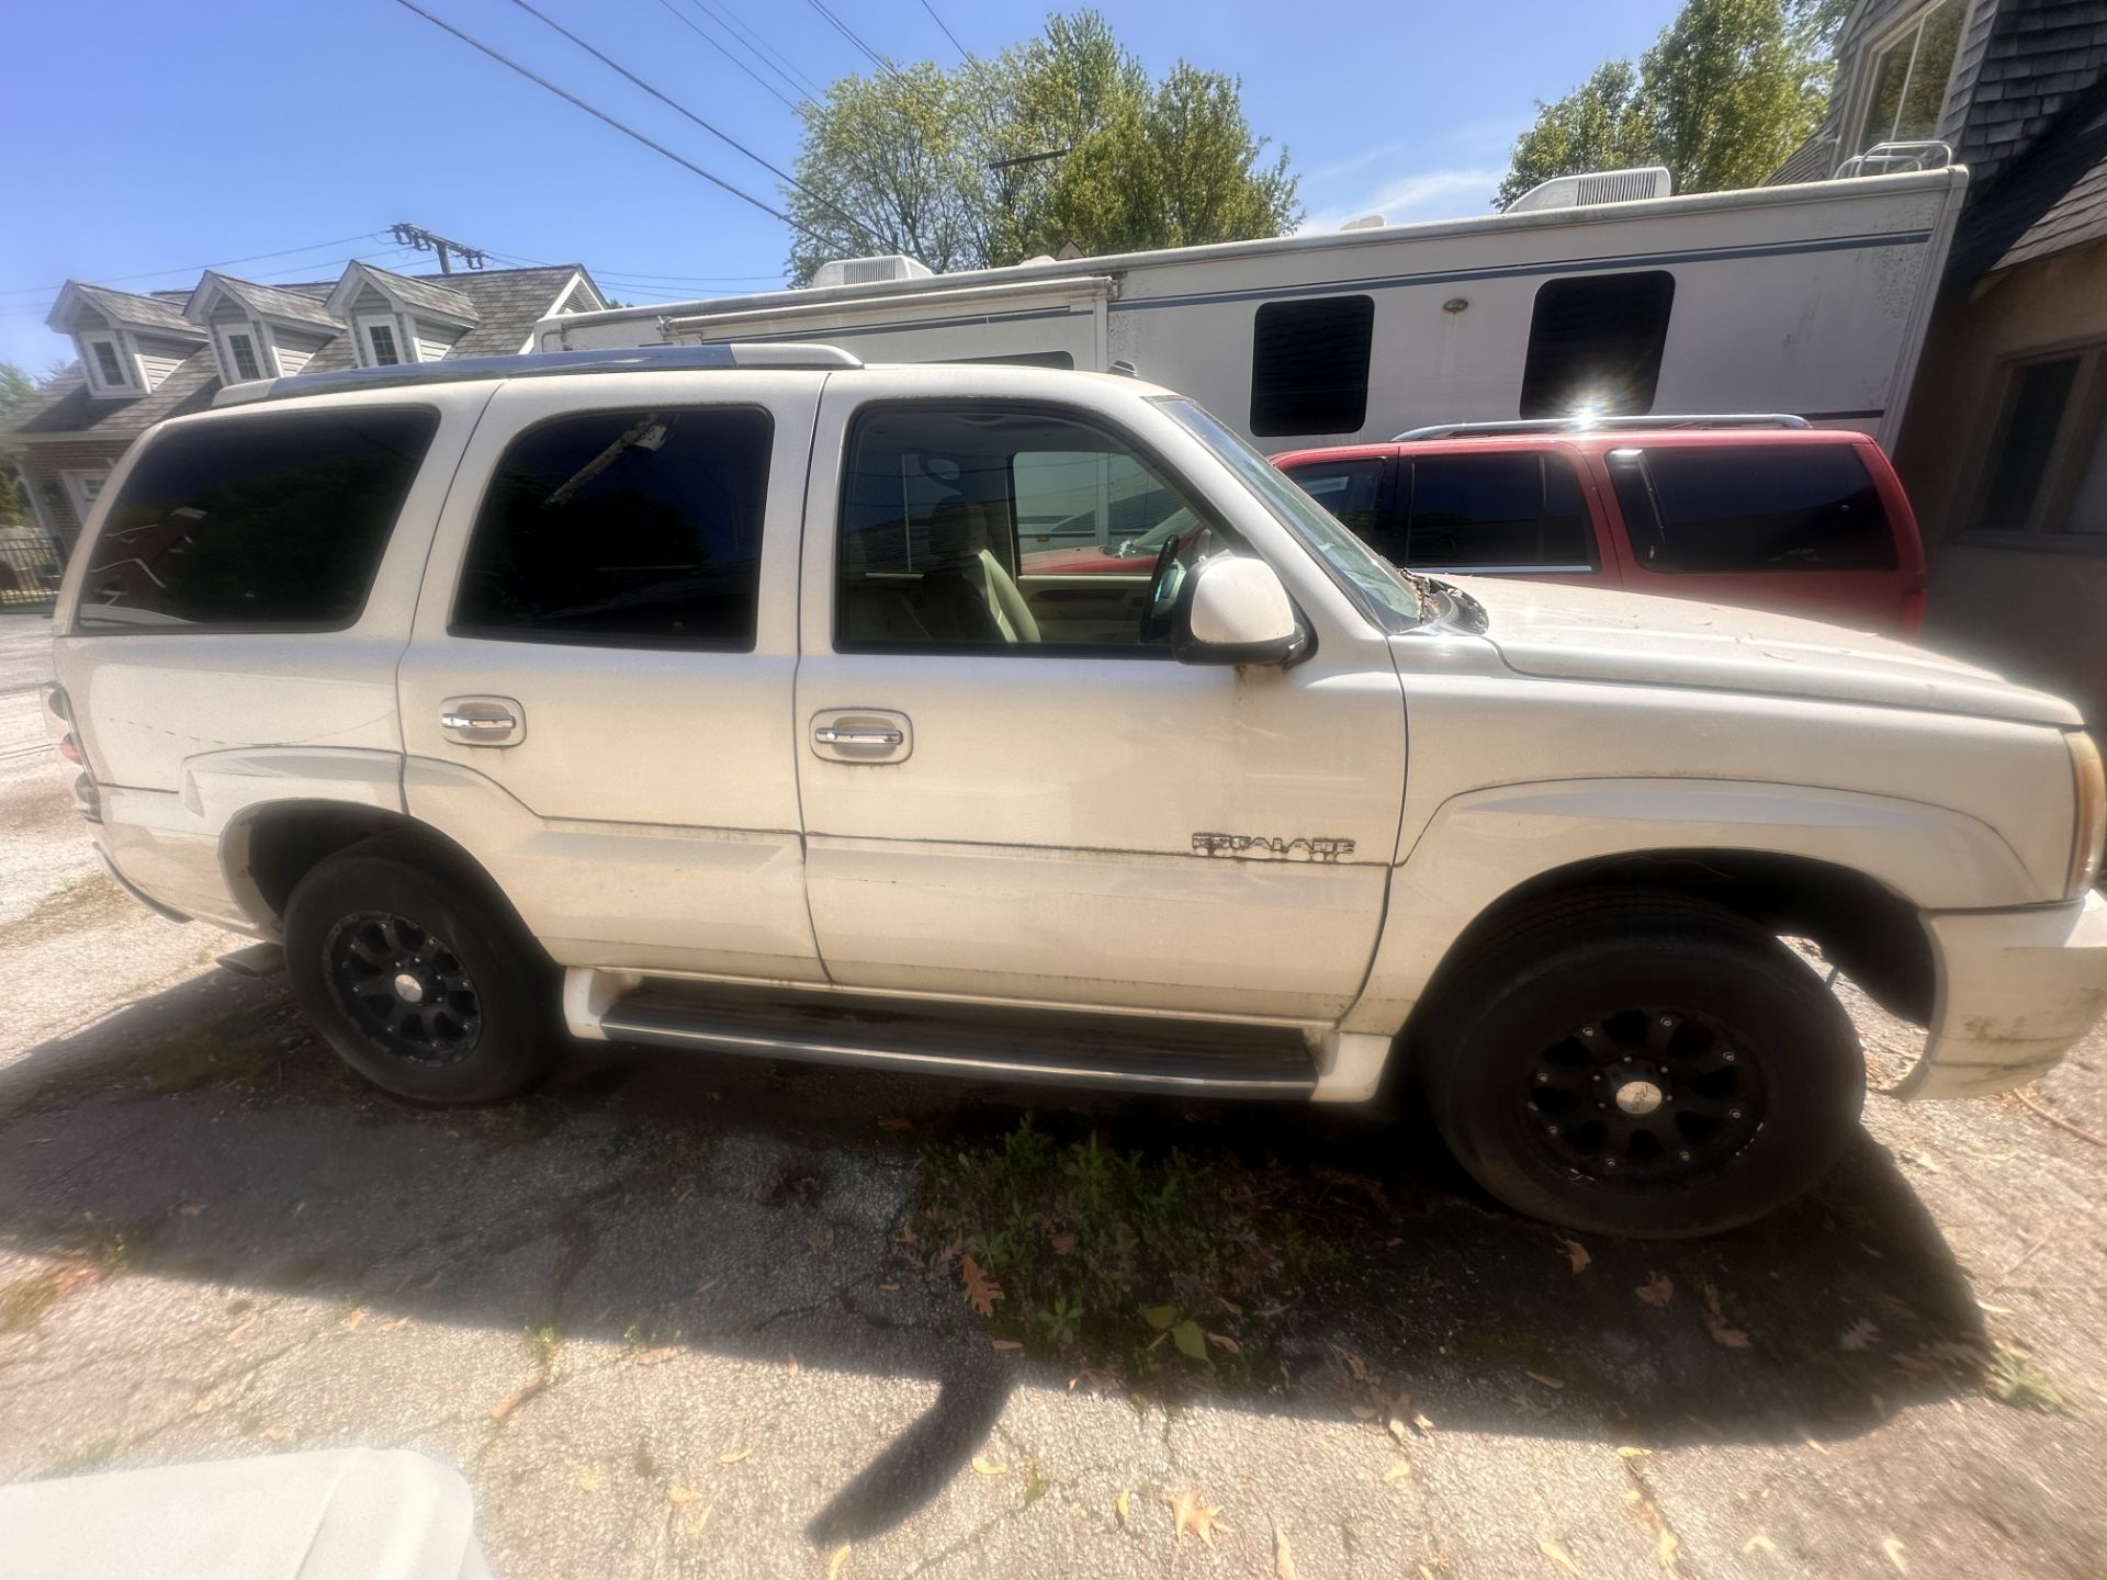
{"label": "weedy green patch in the shadow beside the Escalade's running board", "polygon": [[1268,1321],[1342,1260],[1279,1165],[1060,1140],[1030,1114],[925,1150],[912,1243],[984,1298],[997,1338],[1129,1380],[1277,1376]]}

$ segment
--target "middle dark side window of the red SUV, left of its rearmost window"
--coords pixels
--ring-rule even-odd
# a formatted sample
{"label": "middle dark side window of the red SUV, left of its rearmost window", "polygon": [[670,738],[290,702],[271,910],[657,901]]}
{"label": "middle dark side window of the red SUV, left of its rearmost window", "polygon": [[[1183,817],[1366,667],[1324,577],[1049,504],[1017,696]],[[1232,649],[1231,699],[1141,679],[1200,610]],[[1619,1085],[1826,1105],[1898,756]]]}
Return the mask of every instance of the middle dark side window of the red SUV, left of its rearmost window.
{"label": "middle dark side window of the red SUV, left of its rearmost window", "polygon": [[1412,457],[1403,562],[1414,571],[1593,571],[1595,533],[1563,455]]}

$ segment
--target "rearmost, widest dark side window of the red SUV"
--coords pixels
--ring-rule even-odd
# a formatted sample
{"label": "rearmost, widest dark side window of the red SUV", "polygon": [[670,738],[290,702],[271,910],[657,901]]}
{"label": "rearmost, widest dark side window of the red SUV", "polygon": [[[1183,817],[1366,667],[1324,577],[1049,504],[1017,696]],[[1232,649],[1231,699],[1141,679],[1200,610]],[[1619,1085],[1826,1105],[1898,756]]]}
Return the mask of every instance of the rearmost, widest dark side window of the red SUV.
{"label": "rearmost, widest dark side window of the red SUV", "polygon": [[1892,571],[1894,529],[1850,445],[1610,451],[1648,571]]}

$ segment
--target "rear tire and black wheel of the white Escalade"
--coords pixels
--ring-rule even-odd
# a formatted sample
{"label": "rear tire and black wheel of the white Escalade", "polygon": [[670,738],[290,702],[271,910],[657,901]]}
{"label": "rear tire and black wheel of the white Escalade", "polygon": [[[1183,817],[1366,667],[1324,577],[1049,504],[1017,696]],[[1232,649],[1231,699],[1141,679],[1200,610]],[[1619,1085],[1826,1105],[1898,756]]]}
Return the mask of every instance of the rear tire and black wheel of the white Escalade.
{"label": "rear tire and black wheel of the white Escalade", "polygon": [[287,900],[284,963],[314,1028],[398,1098],[495,1102],[548,1064],[554,969],[501,902],[415,841],[369,838],[308,872]]}

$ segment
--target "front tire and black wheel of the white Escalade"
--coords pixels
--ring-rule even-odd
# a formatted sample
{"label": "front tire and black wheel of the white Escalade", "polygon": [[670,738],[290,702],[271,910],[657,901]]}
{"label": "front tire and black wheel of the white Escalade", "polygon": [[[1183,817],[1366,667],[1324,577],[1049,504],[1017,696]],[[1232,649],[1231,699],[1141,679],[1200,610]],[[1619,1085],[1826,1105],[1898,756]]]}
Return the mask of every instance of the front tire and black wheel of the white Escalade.
{"label": "front tire and black wheel of the white Escalade", "polygon": [[1842,1005],[1785,944],[1673,893],[1559,902],[1437,990],[1420,1079],[1456,1161],[1563,1228],[1690,1239],[1783,1207],[1865,1104]]}

